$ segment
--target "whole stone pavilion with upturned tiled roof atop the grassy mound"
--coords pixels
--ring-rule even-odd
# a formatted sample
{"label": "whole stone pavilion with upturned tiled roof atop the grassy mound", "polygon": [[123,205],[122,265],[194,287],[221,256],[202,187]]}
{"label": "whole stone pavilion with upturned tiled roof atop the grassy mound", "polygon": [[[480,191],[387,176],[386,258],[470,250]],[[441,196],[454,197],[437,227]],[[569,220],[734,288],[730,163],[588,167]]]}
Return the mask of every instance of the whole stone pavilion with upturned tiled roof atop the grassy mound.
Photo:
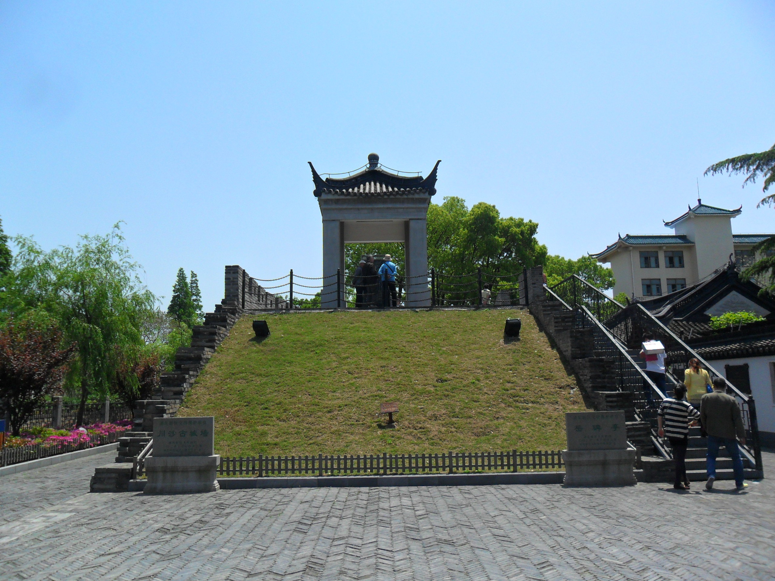
{"label": "whole stone pavilion with upturned tiled roof atop the grassy mound", "polygon": [[[408,307],[429,307],[428,240],[426,220],[436,194],[439,163],[428,177],[402,176],[387,171],[380,156],[347,177],[323,179],[312,162],[315,198],[323,219],[323,287],[321,306],[336,308],[336,273],[345,274],[344,245],[351,242],[404,242]],[[399,172],[403,173],[403,172]],[[339,174],[341,175],[341,174]],[[343,283],[343,280],[341,281]],[[341,284],[339,304],[344,302]]]}

